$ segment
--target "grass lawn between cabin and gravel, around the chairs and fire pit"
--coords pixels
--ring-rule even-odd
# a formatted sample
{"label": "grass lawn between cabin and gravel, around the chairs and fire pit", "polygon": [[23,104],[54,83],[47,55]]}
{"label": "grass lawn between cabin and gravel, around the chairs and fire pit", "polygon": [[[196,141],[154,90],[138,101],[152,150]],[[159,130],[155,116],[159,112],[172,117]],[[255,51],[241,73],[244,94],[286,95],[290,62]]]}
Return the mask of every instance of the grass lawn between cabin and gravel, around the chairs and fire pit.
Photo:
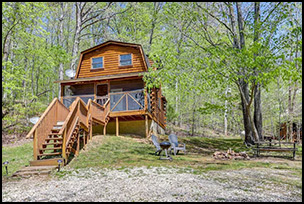
{"label": "grass lawn between cabin and gravel, around the chairs and fire pit", "polygon": [[[167,140],[167,136],[160,136],[160,142]],[[253,167],[266,167],[277,169],[290,169],[302,174],[301,161],[291,161],[281,158],[277,162],[265,159],[251,160],[215,160],[212,154],[215,151],[227,151],[231,148],[235,152],[246,151],[252,156],[252,150],[247,149],[241,139],[238,138],[205,138],[205,137],[181,137],[180,142],[186,144],[188,154],[179,153],[172,156],[173,161],[159,160],[154,155],[155,147],[144,139],[136,139],[127,136],[96,136],[88,144],[86,150],[82,150],[77,158],[74,158],[69,167],[74,169],[98,167],[98,168],[126,168],[134,166],[166,166],[181,169],[194,169],[193,173],[209,170],[241,169]],[[299,148],[302,151],[302,148]],[[290,156],[292,153],[290,153]],[[297,159],[302,153],[298,152]],[[301,156],[300,156],[301,157]],[[290,163],[296,165],[290,165]]]}

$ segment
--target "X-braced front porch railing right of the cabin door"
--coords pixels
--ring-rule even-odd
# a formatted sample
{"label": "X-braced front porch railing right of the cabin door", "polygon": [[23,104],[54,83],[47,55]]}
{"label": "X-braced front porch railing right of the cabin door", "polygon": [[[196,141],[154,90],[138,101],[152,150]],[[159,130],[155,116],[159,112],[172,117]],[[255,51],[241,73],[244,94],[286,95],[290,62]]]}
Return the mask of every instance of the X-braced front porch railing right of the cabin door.
{"label": "X-braced front porch railing right of the cabin door", "polygon": [[145,107],[144,89],[110,93],[111,112],[143,110],[144,107]]}

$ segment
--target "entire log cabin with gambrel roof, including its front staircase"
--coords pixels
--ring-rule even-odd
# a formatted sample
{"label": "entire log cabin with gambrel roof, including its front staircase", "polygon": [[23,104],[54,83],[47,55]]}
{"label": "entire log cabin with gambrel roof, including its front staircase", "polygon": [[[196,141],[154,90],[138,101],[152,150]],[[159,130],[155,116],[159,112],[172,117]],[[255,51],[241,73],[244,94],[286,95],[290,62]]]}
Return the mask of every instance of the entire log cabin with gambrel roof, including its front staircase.
{"label": "entire log cabin with gambrel roof, including its front staircase", "polygon": [[31,166],[66,164],[98,134],[148,137],[164,133],[166,99],[145,89],[152,61],[139,44],[107,41],[80,54],[73,78],[56,81],[54,98],[26,138],[33,137]]}

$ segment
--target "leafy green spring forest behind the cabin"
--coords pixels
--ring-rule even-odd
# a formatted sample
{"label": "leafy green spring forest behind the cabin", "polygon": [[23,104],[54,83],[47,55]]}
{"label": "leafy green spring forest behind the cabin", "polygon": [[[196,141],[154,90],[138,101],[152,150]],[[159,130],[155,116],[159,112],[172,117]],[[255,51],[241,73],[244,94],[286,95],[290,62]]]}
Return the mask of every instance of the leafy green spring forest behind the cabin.
{"label": "leafy green spring forest behind the cabin", "polygon": [[2,2],[2,135],[27,133],[80,51],[108,40],[143,46],[147,86],[189,135],[249,144],[302,124],[300,2]]}

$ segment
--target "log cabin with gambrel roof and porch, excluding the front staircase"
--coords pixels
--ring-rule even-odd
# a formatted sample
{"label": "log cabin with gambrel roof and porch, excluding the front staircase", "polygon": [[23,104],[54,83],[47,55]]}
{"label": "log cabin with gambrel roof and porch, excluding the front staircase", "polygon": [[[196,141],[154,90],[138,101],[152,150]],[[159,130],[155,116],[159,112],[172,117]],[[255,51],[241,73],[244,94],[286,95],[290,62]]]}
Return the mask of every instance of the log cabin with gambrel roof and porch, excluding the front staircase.
{"label": "log cabin with gambrel roof and porch, excluding the front staircase", "polygon": [[144,89],[143,74],[151,64],[139,44],[107,41],[84,50],[75,77],[56,81],[61,86],[60,101],[66,107],[76,97],[85,103],[91,99],[101,106],[108,101],[108,121],[93,121],[93,133],[146,137],[152,129],[163,133],[166,99],[161,88],[150,92]]}

